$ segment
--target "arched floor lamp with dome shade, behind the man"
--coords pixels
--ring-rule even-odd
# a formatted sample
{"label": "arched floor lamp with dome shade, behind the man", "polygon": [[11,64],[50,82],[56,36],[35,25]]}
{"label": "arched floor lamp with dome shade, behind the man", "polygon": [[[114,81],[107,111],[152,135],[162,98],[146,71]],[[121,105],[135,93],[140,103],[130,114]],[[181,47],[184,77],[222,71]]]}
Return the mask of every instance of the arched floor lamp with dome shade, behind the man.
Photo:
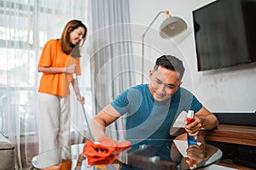
{"label": "arched floor lamp with dome shade, behind the man", "polygon": [[169,14],[169,11],[160,11],[155,17],[154,20],[150,23],[146,31],[144,31],[142,39],[143,39],[143,63],[142,63],[142,83],[143,83],[143,73],[144,73],[144,39],[146,36],[146,33],[148,32],[149,28],[154,24],[154,21],[158,18],[160,14],[166,14],[166,20],[162,22],[160,25],[160,37],[162,38],[171,38],[177,36],[177,34],[181,33],[182,31],[185,31],[187,29],[186,22],[175,16],[171,16]]}

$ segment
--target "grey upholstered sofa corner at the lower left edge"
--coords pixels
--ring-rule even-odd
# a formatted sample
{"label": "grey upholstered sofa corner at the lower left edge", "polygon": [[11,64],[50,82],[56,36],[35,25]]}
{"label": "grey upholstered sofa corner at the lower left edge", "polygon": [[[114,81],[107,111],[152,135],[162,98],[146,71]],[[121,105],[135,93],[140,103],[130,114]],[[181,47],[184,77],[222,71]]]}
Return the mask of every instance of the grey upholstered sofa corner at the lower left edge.
{"label": "grey upholstered sofa corner at the lower left edge", "polygon": [[15,169],[15,147],[0,133],[0,170]]}

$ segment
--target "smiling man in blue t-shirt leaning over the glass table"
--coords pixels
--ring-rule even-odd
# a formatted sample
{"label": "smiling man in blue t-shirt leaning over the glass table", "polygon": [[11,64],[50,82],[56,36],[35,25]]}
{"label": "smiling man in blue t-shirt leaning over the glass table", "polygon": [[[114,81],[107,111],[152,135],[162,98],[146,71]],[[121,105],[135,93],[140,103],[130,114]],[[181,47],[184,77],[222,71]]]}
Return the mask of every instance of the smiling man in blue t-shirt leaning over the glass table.
{"label": "smiling man in blue t-shirt leaning over the glass table", "polygon": [[115,144],[105,128],[125,115],[126,139],[169,139],[173,122],[182,111],[194,111],[195,122],[185,126],[192,136],[201,127],[218,127],[218,120],[187,89],[181,88],[183,62],[172,55],[158,58],[149,72],[149,84],[125,90],[105,106],[90,123],[93,138],[102,144]]}

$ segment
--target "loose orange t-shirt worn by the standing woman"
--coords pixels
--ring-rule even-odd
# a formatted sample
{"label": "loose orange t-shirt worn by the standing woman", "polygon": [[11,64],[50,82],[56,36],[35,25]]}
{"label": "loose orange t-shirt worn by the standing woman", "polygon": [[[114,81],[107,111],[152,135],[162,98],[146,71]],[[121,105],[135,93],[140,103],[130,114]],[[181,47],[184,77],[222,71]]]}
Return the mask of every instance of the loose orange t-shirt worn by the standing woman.
{"label": "loose orange t-shirt worn by the standing woman", "polygon": [[[64,54],[61,51],[60,39],[52,39],[45,44],[38,62],[38,66],[61,68],[73,64],[77,65],[76,74],[81,75],[80,59],[73,58],[71,55]],[[72,80],[73,74],[43,73],[43,77],[40,80],[38,92],[66,97],[70,94],[69,85]]]}

